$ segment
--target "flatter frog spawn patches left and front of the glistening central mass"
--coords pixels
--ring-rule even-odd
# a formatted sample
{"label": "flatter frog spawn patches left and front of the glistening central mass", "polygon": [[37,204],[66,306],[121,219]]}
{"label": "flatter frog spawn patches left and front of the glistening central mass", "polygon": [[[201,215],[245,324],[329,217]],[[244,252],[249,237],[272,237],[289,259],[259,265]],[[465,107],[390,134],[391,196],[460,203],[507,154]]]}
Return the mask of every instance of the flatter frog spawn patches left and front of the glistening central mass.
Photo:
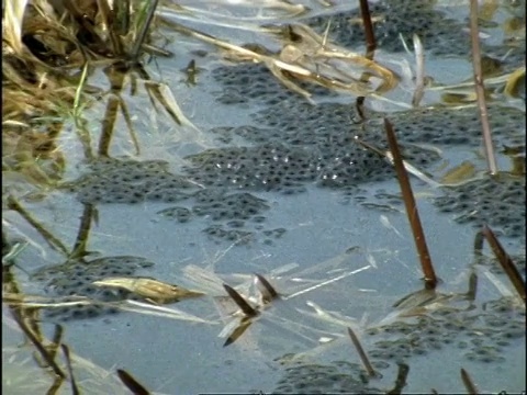
{"label": "flatter frog spawn patches left and front of the glistening central mass", "polygon": [[[195,218],[212,222],[203,232],[215,241],[255,241],[257,233],[276,230],[261,225],[266,221],[262,214],[269,208],[266,200],[248,192],[233,193],[225,185],[216,187],[218,182],[211,184],[206,178],[192,180],[193,171],[180,176],[169,172],[166,162],[132,159],[101,159],[89,163],[88,169],[92,171],[65,187],[85,204],[177,203],[157,214],[179,223]],[[267,237],[266,242],[269,240]]]}

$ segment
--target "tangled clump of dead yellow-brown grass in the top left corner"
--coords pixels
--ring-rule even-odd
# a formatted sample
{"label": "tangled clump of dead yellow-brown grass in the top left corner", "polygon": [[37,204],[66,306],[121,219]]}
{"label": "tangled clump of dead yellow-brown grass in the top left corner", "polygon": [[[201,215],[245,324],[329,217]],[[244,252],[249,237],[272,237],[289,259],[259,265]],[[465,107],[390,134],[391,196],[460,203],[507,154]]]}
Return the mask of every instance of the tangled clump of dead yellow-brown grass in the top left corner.
{"label": "tangled clump of dead yellow-brown grass in the top left corner", "polygon": [[7,2],[2,20],[4,171],[23,172],[40,184],[60,178],[64,158],[56,138],[63,123],[74,119],[82,133],[86,122],[80,110],[104,94],[86,84],[87,77],[96,67],[116,65],[110,71],[121,74],[137,68],[139,55],[152,48],[148,27],[156,5],[157,1],[139,8],[130,1],[110,8],[104,0]]}

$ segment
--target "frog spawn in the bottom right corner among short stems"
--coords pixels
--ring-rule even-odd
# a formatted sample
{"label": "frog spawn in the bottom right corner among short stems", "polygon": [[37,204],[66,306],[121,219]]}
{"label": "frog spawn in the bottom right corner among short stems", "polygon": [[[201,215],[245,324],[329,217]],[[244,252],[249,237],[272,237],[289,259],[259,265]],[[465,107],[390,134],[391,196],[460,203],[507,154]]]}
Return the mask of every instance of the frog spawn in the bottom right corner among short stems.
{"label": "frog spawn in the bottom right corner among short stems", "polygon": [[[365,343],[373,369],[384,374],[392,364],[408,363],[435,350],[448,349],[466,360],[500,364],[506,359],[515,339],[525,337],[525,308],[515,307],[502,297],[473,311],[437,311],[429,316],[367,330]],[[382,340],[377,340],[382,338]],[[351,345],[349,346],[351,349]],[[453,348],[453,350],[452,350]],[[283,377],[273,394],[368,393],[385,394],[377,388],[365,369],[357,363],[336,361],[330,364],[284,363]]]}

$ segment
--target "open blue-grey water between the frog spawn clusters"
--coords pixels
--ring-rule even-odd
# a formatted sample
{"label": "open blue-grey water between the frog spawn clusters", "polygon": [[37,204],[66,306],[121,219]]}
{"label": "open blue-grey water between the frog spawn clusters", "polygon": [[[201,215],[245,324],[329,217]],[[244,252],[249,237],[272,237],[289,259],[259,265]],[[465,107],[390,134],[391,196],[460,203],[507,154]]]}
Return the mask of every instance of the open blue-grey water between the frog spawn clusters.
{"label": "open blue-grey water between the frog spawn clusters", "polygon": [[[343,4],[339,4],[337,9],[341,8]],[[321,10],[315,8],[313,12]],[[238,44],[257,42],[261,37],[261,34],[255,32],[199,23],[197,27],[204,31],[209,27],[210,31],[206,32]],[[142,149],[137,158],[166,160],[171,171],[180,172],[186,165],[184,156],[217,146],[213,135],[208,133],[211,127],[246,125],[251,122],[249,114],[258,110],[258,104],[248,102],[229,106],[217,103],[215,92],[223,88],[209,74],[220,64],[215,49],[197,40],[168,32],[166,34],[173,41],[168,49],[176,55],[171,59],[156,59],[148,65],[148,69],[154,79],[170,87],[183,114],[201,132],[189,126],[175,126],[166,114],[154,113],[144,93],[133,98],[125,94],[125,100],[130,102]],[[269,43],[268,40],[264,42]],[[206,55],[195,57],[192,50],[198,49],[204,49]],[[412,61],[412,57],[406,55],[380,53],[379,56],[381,59],[386,57],[397,61]],[[181,70],[192,58],[197,58],[198,66],[202,69],[195,87],[182,82],[186,75]],[[455,84],[471,77],[471,67],[460,58],[433,59],[427,64],[427,74],[437,82]],[[272,76],[269,75],[269,78]],[[412,92],[406,88],[401,84],[388,98],[408,102]],[[352,98],[347,97],[336,100],[354,102]],[[424,103],[430,104],[437,100],[437,93],[427,93]],[[371,100],[367,104],[373,110],[396,109],[396,105],[381,101]],[[88,110],[94,114],[90,122],[93,142],[98,139],[99,122],[103,113],[101,109],[97,106]],[[126,126],[120,120],[111,145],[112,156],[133,155],[131,137],[125,131]],[[72,153],[68,158],[66,174],[68,179],[75,179],[86,169],[80,144],[72,135],[63,135],[61,138],[65,151]],[[457,148],[446,150],[444,155],[448,168],[463,160],[473,161],[479,170],[485,166],[476,149]],[[507,169],[509,160],[500,156],[498,163],[502,169]],[[441,165],[445,162],[437,163],[430,170],[436,179],[445,172]],[[415,178],[412,178],[412,183],[430,255],[441,279],[438,292],[467,292],[471,273],[469,268],[474,261],[472,245],[476,230],[470,225],[455,223],[450,215],[438,214],[428,199],[438,193],[436,189]],[[397,199],[379,196],[379,192],[384,196],[399,195],[399,185],[393,177],[384,182],[360,185],[360,191],[349,195],[341,190],[321,189],[315,184],[305,187],[305,192],[294,195],[251,192],[267,201],[269,210],[265,212],[265,223],[249,225],[255,240],[248,245],[233,245],[232,241],[218,241],[209,237],[203,232],[211,225],[208,217],[197,217],[180,224],[159,214],[173,204],[99,204],[88,250],[97,251],[102,257],[146,258],[155,262],[155,266],[138,275],[154,276],[191,289],[199,287],[199,283],[184,275],[186,268],[190,264],[214,270],[228,279],[224,281],[233,281],[233,285],[242,282],[242,276],[233,278],[232,274],[244,274],[244,279],[250,279],[251,273],[257,272],[277,284],[277,287],[281,284],[284,289],[279,291],[290,295],[302,286],[321,284],[337,279],[343,273],[358,271],[356,274],[343,275],[327,285],[314,287],[305,294],[271,306],[238,342],[226,348],[223,347],[225,338],[218,337],[225,323],[212,298],[217,295],[172,305],[209,320],[208,324],[120,313],[65,323],[64,342],[75,353],[102,369],[111,372],[125,369],[147,388],[164,394],[270,392],[284,374],[285,368],[277,362],[284,354],[300,356],[304,363],[359,363],[357,352],[347,338],[346,325],[317,317],[313,305],[309,303],[314,302],[325,311],[345,317],[344,321],[347,320],[359,331],[368,351],[375,347],[377,338],[369,338],[366,329],[384,324],[383,319],[393,312],[392,306],[396,301],[422,289],[422,273],[404,205]],[[44,227],[49,228],[56,238],[71,248],[83,208],[72,194],[53,191],[42,200],[20,199]],[[19,237],[23,235],[34,242],[18,258],[18,264],[24,271],[32,273],[64,262],[65,258],[48,248],[43,237],[19,214],[7,211],[3,215],[10,233],[18,232]],[[503,241],[512,253],[525,255],[525,245],[518,239],[503,238]],[[280,268],[291,263],[296,267],[277,274]],[[483,271],[479,275],[479,303],[502,296],[492,282],[493,278],[485,276],[485,273]],[[295,283],[294,279],[298,278],[305,282]],[[500,279],[508,286],[505,278]],[[29,294],[42,294],[40,285],[24,272],[18,274],[18,281]],[[53,325],[46,323],[43,327],[51,331]],[[323,337],[334,341],[321,346]],[[16,340],[5,337],[2,341],[13,343]],[[459,376],[461,368],[471,373],[481,392],[517,392],[525,388],[525,336],[509,339],[509,345],[501,350],[500,356],[504,359],[500,363],[468,360],[464,358],[466,350],[456,345],[408,358],[410,375],[404,392],[426,392],[430,388],[439,392],[462,391]],[[380,388],[393,386],[396,363],[390,361],[390,366],[382,374],[383,379],[372,385]],[[82,388],[85,393],[91,393],[88,385]],[[93,393],[101,393],[101,390],[93,390]]]}

